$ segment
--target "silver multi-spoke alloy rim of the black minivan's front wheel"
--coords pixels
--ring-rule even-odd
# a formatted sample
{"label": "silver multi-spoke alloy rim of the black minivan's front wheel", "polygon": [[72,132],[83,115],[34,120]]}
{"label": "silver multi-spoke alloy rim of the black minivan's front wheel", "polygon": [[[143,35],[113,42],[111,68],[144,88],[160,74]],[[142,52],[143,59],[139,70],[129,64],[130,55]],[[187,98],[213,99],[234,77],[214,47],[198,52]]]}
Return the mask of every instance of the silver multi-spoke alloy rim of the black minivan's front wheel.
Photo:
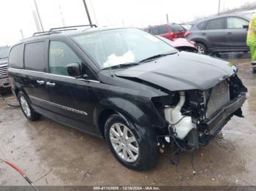
{"label": "silver multi-spoke alloy rim of the black minivan's front wheel", "polygon": [[110,127],[109,135],[113,149],[122,160],[129,163],[137,160],[139,156],[138,142],[126,125],[114,123]]}

